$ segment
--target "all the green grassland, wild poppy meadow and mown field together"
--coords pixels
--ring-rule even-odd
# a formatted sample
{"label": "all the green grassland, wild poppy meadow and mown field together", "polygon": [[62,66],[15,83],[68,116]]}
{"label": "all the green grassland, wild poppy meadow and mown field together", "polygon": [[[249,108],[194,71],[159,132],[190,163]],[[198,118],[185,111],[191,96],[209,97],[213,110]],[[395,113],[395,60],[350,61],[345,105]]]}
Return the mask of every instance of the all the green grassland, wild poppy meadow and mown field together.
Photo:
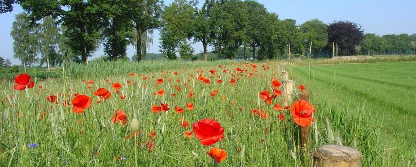
{"label": "all the green grassland, wild poppy meadow and mown field together", "polygon": [[[227,151],[227,159],[219,166],[311,166],[312,151],[331,143],[361,151],[364,167],[415,166],[415,145],[409,142],[415,138],[415,95],[411,93],[415,75],[410,73],[414,65],[322,65],[312,68],[312,76],[309,67],[286,67],[295,87],[307,86],[316,108],[305,161],[290,111],[273,108],[274,104],[282,105],[282,97],[274,98],[271,105],[259,98],[259,92],[272,91],[272,79],[280,80],[280,62],[72,64],[55,69],[51,79],[33,77],[34,88],[24,91],[14,90],[13,80],[2,79],[0,166],[212,166],[213,160],[207,155],[212,147]],[[388,67],[385,71],[390,75],[382,75]],[[354,70],[361,75],[352,75]],[[364,80],[364,74],[374,77]],[[200,75],[210,83],[198,79]],[[401,81],[392,81],[399,75]],[[403,76],[412,82],[403,82]],[[232,78],[235,84],[231,84]],[[158,79],[163,83],[157,83]],[[115,82],[122,85],[118,94],[110,84]],[[361,85],[364,88],[358,87]],[[100,87],[112,95],[98,103],[94,91]],[[156,95],[160,89],[164,95]],[[212,96],[214,90],[218,93]],[[388,93],[392,90],[394,93]],[[295,90],[295,97],[298,93]],[[75,94],[92,98],[91,107],[82,114],[72,111]],[[47,100],[50,95],[57,96],[57,104]],[[70,105],[63,105],[64,101]],[[169,104],[170,110],[152,112],[152,106],[159,103]],[[194,110],[186,110],[186,103],[193,103]],[[184,113],[176,113],[175,106],[182,107]],[[116,110],[126,112],[126,125],[111,120]],[[285,116],[283,121],[278,119],[280,113]],[[139,131],[131,131],[133,118],[139,121]],[[224,139],[207,147],[195,136],[184,137],[192,124],[203,118],[217,120],[224,128]],[[410,149],[406,150],[404,143]]]}

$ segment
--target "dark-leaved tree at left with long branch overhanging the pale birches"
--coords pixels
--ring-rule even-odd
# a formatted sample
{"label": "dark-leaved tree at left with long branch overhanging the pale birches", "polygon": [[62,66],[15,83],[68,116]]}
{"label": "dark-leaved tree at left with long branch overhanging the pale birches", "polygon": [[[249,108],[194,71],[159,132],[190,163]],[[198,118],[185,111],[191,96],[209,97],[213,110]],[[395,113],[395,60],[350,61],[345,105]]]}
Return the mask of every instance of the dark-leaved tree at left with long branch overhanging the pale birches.
{"label": "dark-leaved tree at left with long branch overhanging the pale birches", "polygon": [[24,0],[23,9],[30,13],[32,23],[46,17],[59,17],[67,27],[65,35],[75,56],[88,63],[88,56],[102,40],[99,31],[103,27],[103,3],[96,0]]}

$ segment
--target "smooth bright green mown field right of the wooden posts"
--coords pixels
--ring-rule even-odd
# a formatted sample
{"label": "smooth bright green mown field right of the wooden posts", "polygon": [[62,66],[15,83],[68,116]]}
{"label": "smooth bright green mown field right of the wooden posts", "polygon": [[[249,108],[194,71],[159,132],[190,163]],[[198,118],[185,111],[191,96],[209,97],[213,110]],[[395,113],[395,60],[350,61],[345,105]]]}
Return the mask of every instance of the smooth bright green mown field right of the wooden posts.
{"label": "smooth bright green mown field right of the wooden posts", "polygon": [[[412,158],[416,148],[416,62],[291,66],[294,80],[311,87],[312,103],[332,110],[368,111],[386,148]],[[310,70],[311,69],[311,70]],[[348,106],[348,107],[347,107]],[[371,124],[367,124],[371,126]]]}

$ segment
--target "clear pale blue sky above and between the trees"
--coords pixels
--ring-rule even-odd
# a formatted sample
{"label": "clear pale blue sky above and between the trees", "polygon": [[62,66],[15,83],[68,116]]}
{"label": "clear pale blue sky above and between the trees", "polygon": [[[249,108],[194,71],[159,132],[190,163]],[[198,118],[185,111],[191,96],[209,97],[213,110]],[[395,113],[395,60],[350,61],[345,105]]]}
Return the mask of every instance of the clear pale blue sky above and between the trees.
{"label": "clear pale blue sky above and between the trees", "polygon": [[[205,0],[199,0],[203,3]],[[326,24],[336,20],[352,21],[360,24],[364,32],[384,34],[416,33],[416,0],[258,0],[269,12],[279,15],[280,19],[295,19],[298,25],[312,19],[319,19]],[[164,0],[168,5],[172,0]],[[0,56],[10,58],[13,64],[19,60],[13,56],[13,39],[10,30],[14,15],[21,12],[19,5],[14,11],[0,14]],[[154,33],[154,42],[149,53],[159,53],[159,34]],[[193,45],[195,53],[202,52],[202,44]],[[101,47],[94,57],[104,55]],[[210,50],[211,48],[208,48]],[[134,54],[129,46],[128,56]]]}

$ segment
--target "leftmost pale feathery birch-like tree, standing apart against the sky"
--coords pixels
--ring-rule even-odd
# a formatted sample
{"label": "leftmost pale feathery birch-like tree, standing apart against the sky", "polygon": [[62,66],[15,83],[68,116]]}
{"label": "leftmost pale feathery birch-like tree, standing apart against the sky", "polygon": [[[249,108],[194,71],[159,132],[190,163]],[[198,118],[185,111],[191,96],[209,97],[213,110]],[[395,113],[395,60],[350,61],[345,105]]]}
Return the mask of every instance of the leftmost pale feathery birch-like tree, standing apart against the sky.
{"label": "leftmost pale feathery birch-like tree, standing apart against the sky", "polygon": [[19,13],[12,24],[13,57],[18,58],[26,71],[26,65],[37,59],[37,34],[26,13]]}

